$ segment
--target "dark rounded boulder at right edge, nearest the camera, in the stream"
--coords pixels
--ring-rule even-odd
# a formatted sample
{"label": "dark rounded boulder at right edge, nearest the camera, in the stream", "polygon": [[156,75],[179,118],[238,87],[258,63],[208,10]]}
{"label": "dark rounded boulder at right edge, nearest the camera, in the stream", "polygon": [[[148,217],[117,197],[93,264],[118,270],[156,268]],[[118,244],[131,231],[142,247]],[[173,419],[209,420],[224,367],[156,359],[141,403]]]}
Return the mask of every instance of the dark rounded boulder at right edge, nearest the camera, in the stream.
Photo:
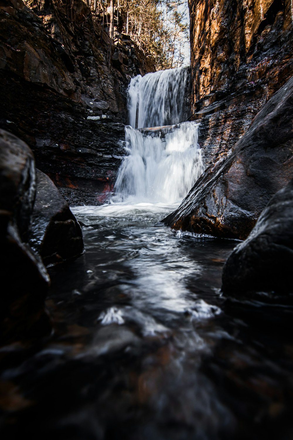
{"label": "dark rounded boulder at right edge, nearest the camera, in the stream", "polygon": [[223,269],[224,293],[293,291],[293,180],[278,191]]}

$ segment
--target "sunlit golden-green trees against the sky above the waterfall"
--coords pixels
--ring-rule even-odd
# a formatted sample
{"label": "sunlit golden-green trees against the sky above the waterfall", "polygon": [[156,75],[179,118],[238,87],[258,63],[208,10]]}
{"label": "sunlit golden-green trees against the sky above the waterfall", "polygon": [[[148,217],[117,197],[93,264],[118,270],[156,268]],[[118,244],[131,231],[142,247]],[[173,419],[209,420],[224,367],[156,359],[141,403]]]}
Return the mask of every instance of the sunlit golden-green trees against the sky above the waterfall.
{"label": "sunlit golden-green trees against the sky above the waterfall", "polygon": [[[104,26],[112,20],[112,1],[87,0],[87,4],[96,18],[101,20],[104,15]],[[189,61],[187,20],[187,0],[114,0],[114,26],[123,22],[120,31],[152,57],[157,70],[181,67]]]}

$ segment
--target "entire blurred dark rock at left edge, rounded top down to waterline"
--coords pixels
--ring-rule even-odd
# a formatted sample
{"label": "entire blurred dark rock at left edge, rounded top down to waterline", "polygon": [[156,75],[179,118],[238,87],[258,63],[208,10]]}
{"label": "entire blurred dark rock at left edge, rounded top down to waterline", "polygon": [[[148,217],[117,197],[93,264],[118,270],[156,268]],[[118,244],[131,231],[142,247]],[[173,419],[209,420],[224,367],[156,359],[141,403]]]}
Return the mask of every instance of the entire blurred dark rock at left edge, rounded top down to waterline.
{"label": "entire blurred dark rock at left edge, rounded top down to waterline", "polygon": [[0,343],[34,339],[51,330],[44,308],[49,276],[41,258],[23,242],[35,197],[29,147],[0,130]]}

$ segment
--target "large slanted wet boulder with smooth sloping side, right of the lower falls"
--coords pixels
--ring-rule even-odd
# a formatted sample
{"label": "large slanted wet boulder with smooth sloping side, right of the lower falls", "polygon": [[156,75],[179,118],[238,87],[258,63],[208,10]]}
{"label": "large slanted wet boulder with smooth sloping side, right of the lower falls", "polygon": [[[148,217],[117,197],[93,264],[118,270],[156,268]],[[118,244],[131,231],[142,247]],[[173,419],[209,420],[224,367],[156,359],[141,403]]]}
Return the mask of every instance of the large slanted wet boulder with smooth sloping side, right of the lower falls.
{"label": "large slanted wet boulder with smooth sloping side, right of the lower falls", "polygon": [[293,174],[293,77],[235,146],[205,170],[165,223],[174,229],[245,239]]}

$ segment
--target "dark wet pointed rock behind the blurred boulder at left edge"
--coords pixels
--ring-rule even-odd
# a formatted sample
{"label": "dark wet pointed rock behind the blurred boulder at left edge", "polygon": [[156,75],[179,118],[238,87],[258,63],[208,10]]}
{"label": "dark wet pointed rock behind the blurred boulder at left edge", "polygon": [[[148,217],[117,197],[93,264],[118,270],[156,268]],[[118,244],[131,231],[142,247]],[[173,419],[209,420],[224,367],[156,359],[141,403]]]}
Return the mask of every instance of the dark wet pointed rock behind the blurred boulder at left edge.
{"label": "dark wet pointed rock behind the blurred boulder at left edge", "polygon": [[54,264],[83,252],[80,225],[51,179],[36,170],[30,245],[44,264]]}

